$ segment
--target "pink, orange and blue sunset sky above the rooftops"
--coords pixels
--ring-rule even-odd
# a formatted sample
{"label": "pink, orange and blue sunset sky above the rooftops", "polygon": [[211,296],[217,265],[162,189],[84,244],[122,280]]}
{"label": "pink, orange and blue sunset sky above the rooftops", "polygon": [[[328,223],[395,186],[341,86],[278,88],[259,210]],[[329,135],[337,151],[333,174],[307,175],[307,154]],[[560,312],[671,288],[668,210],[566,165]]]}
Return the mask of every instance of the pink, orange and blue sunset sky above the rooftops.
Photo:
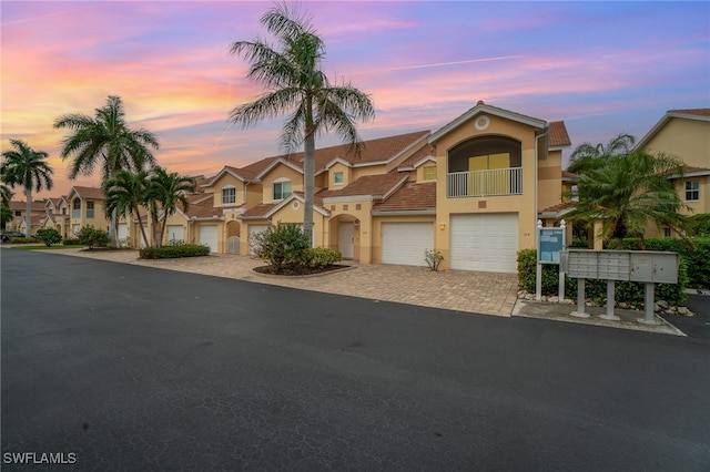
{"label": "pink, orange and blue sunset sky above the rooftops", "polygon": [[[65,113],[123,99],[156,134],[171,172],[212,175],[281,153],[282,121],[243,131],[232,107],[262,92],[232,42],[265,37],[271,2],[2,1],[1,150],[50,154],[54,189]],[[325,41],[325,71],[372,95],[365,140],[432,130],[486,103],[564,120],[572,146],[642,137],[671,109],[710,106],[710,2],[302,2]],[[323,137],[318,146],[335,144]],[[569,154],[569,153],[567,153]],[[16,193],[21,199],[22,192]]]}

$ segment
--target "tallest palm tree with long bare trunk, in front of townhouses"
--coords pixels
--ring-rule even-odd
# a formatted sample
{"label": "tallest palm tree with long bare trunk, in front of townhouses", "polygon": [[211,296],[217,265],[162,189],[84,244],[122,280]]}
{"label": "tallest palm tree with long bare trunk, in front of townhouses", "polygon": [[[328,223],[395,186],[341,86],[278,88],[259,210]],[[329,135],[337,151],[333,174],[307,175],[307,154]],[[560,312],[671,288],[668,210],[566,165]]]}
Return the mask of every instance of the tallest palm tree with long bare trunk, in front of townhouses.
{"label": "tallest palm tree with long bare trunk, in front of townhouses", "polygon": [[257,121],[288,114],[281,144],[288,153],[304,146],[303,230],[313,242],[315,137],[334,131],[358,152],[362,140],[355,121],[374,119],[375,110],[369,95],[349,82],[331,84],[322,69],[325,44],[310,18],[283,3],[268,10],[261,23],[274,35],[277,48],[257,38],[234,42],[231,53],[250,62],[246,76],[267,91],[232,110],[230,120],[247,129]]}

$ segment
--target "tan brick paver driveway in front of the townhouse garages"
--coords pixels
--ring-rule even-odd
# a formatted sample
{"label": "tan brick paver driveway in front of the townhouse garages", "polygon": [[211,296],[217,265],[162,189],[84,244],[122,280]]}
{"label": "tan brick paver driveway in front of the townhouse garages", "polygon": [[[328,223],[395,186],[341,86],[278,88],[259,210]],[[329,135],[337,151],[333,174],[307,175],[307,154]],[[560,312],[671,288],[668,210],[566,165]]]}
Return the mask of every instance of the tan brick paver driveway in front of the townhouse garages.
{"label": "tan brick paver driveway in front of the townhouse garages", "polygon": [[253,271],[254,267],[263,266],[264,263],[237,255],[142,260],[138,258],[138,250],[58,249],[51,253],[506,317],[510,316],[517,298],[515,274],[463,270],[434,273],[426,267],[355,265],[349,269],[318,276],[277,277]]}

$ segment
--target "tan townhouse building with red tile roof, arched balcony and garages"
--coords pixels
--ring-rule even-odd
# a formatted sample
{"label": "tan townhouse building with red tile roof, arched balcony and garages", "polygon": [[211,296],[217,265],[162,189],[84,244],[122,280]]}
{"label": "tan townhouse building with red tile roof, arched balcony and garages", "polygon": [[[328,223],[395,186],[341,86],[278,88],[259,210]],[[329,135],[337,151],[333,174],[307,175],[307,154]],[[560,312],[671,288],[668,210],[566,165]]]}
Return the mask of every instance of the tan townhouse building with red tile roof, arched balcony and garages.
{"label": "tan townhouse building with red tile roof, arched balcony and garages", "polygon": [[[362,264],[516,271],[535,247],[538,208],[560,203],[562,122],[548,123],[479,102],[442,130],[316,150],[314,245]],[[248,254],[250,235],[303,222],[303,153],[225,166],[203,185],[190,240]],[[176,223],[175,223],[176,224]]]}

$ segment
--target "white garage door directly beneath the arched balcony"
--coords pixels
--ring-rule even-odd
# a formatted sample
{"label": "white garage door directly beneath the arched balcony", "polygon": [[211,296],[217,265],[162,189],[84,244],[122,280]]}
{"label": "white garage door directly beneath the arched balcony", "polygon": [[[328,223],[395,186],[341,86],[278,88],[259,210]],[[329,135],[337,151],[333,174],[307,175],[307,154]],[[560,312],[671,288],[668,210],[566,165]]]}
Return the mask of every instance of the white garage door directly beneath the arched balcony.
{"label": "white garage door directly beneath the arched balcony", "polygon": [[518,214],[452,215],[450,267],[516,273]]}

